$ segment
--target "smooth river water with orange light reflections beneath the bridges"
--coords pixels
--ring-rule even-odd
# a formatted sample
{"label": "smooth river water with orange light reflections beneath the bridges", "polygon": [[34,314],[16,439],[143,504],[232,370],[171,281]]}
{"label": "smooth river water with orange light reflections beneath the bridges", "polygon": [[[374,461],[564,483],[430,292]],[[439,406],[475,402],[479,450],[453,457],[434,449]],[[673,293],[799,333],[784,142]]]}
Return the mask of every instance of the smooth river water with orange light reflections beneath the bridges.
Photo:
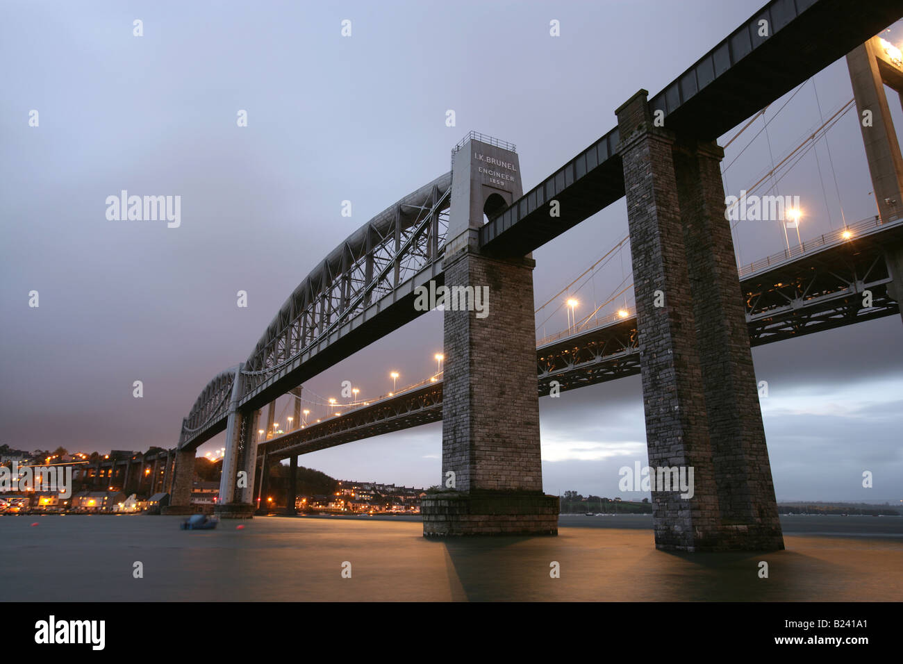
{"label": "smooth river water with orange light reflections beneath the bridges", "polygon": [[657,551],[651,519],[627,515],[563,516],[557,538],[439,540],[417,519],[210,531],[180,520],[0,518],[0,601],[898,601],[903,590],[903,519],[892,517],[787,517],[787,550],[769,554]]}

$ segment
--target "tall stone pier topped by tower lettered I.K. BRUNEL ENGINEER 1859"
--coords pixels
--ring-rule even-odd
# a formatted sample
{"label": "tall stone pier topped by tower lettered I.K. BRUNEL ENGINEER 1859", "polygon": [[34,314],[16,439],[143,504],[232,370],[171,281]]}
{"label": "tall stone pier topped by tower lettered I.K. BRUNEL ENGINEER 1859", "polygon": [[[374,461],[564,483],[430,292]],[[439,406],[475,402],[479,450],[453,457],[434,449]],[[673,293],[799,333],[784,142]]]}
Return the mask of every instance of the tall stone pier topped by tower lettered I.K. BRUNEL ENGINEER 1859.
{"label": "tall stone pier topped by tower lettered I.K. BRUNEL ENGINEER 1859", "polygon": [[479,251],[483,215],[523,193],[517,153],[471,134],[453,158],[444,303],[430,286],[430,306],[444,304],[443,491],[422,502],[424,536],[555,535],[558,498],[543,492],[540,461],[535,262]]}

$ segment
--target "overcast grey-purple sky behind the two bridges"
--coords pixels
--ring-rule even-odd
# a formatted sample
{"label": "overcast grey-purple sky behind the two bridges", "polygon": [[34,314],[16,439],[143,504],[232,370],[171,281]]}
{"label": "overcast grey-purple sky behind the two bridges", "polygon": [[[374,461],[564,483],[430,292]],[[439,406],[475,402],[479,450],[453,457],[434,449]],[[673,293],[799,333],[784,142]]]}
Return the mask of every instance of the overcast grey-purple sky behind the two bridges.
{"label": "overcast grey-purple sky behind the two bridges", "polygon": [[[200,390],[247,358],[312,267],[448,171],[470,129],[517,144],[526,191],[615,126],[614,109],[637,89],[655,94],[762,3],[3,3],[0,442],[174,446]],[[560,37],[549,34],[553,19]],[[903,40],[897,28],[887,36]],[[726,192],[759,180],[852,98],[845,61],[777,113],[787,98],[768,109],[768,132],[747,147],[759,118],[727,149]],[[890,107],[899,131],[896,95]],[[237,126],[241,109],[247,127]],[[828,141],[777,183],[803,202],[804,239],[875,213],[855,111]],[[107,196],[121,190],[180,195],[181,226],[107,220]],[[537,306],[626,235],[621,200],[537,250]],[[748,263],[785,239],[776,223],[749,221],[735,242]],[[587,282],[574,295],[582,313],[629,266],[625,251]],[[28,306],[33,290],[38,308]],[[549,313],[537,316],[540,333],[567,326],[563,309]],[[753,351],[769,384],[779,500],[903,498],[901,341],[892,316]],[[338,397],[349,379],[361,396],[380,394],[390,370],[400,383],[429,376],[441,350],[441,314],[429,313],[305,388]],[[618,491],[619,467],[647,461],[638,377],[544,398],[540,411],[545,491],[638,496]],[[441,434],[423,426],[301,463],[428,486],[440,480]],[[861,487],[865,470],[872,489]]]}

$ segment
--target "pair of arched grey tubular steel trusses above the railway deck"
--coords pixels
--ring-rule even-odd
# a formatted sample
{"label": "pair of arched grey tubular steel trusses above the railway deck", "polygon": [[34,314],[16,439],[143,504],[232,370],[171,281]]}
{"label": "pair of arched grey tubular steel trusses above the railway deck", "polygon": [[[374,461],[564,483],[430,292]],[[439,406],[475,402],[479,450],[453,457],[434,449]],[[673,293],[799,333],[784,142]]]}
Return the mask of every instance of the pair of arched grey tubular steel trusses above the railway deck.
{"label": "pair of arched grey tubular steel trusses above the railway deck", "polygon": [[[355,328],[372,304],[395,300],[402,285],[428,269],[440,273],[448,234],[452,173],[408,194],[364,224],[298,285],[242,370],[240,401],[247,403],[302,353],[327,348],[341,326]],[[409,289],[408,289],[409,290]],[[400,323],[406,323],[399,319]],[[228,386],[224,377],[230,376]],[[225,427],[234,374],[210,381],[182,422],[180,448],[202,443]]]}

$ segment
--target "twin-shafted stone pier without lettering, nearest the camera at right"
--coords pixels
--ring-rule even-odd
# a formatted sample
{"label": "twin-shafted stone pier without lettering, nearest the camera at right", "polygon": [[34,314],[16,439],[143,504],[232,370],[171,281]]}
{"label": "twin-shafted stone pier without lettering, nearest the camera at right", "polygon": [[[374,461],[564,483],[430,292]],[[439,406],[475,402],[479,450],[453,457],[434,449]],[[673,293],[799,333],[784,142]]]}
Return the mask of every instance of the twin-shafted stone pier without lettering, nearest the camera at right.
{"label": "twin-shafted stone pier without lettering, nearest the camera at right", "polygon": [[[656,547],[784,548],[729,222],[721,148],[616,111],[627,192]],[[661,306],[656,306],[656,299]],[[664,302],[662,302],[664,300]],[[665,482],[678,469],[692,491]],[[657,490],[657,491],[656,491]]]}

